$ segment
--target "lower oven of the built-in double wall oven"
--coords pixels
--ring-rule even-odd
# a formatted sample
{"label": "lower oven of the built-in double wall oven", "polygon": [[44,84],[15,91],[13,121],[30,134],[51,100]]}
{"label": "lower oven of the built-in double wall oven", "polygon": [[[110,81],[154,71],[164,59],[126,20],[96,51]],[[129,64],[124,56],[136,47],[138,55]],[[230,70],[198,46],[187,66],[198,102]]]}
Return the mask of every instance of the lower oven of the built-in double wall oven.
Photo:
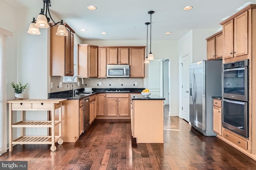
{"label": "lower oven of the built-in double wall oven", "polygon": [[222,125],[248,138],[248,104],[247,102],[223,99]]}

